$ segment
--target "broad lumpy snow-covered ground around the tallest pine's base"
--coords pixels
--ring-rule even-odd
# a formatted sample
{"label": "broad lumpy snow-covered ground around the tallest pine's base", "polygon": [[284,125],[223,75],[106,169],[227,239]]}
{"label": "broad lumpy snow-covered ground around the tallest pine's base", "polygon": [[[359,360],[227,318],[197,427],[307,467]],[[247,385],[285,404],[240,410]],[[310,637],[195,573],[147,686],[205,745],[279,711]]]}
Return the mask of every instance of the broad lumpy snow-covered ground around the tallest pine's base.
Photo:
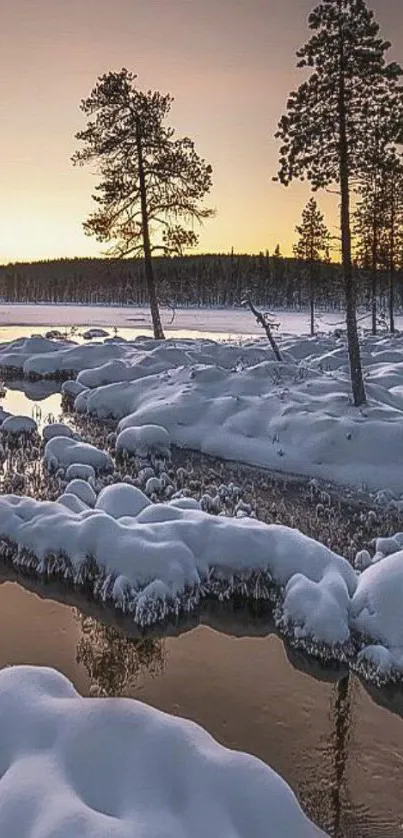
{"label": "broad lumpy snow-covered ground around the tallest pine's base", "polygon": [[[4,373],[77,376],[65,390],[100,419],[166,428],[205,454],[403,496],[403,337],[363,339],[368,405],[351,404],[345,339],[119,338],[89,345],[27,338],[0,344]],[[81,392],[80,392],[81,391]]]}

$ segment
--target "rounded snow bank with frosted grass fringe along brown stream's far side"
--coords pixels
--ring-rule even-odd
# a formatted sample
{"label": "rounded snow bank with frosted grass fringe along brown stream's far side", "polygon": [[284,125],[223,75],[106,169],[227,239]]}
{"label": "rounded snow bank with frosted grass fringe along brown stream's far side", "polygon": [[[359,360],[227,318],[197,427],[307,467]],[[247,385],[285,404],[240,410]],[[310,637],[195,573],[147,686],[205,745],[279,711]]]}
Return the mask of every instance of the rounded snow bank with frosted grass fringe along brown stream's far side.
{"label": "rounded snow bank with frosted grass fringe along brown stream's far side", "polygon": [[283,589],[303,576],[317,586],[315,598],[306,598],[303,587],[300,596],[294,591],[304,637],[314,626],[315,642],[341,642],[340,633],[329,642],[328,603],[333,600],[334,614],[338,605],[344,625],[356,575],[326,547],[254,519],[215,517],[176,502],[150,504],[126,484],[104,489],[91,509],[81,491],[86,485],[80,482],[76,491],[70,484],[58,503],[0,497],[3,557],[38,574],[89,581],[95,596],[132,613],[139,625],[192,610],[209,595],[277,597],[281,607]]}

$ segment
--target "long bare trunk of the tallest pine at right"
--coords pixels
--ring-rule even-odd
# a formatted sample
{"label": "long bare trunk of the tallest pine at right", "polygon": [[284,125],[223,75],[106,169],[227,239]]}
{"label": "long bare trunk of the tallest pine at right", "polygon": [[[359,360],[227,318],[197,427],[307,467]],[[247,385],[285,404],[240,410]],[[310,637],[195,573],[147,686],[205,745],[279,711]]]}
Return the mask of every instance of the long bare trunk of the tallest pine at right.
{"label": "long bare trunk of the tallest pine at right", "polygon": [[351,258],[350,177],[347,141],[347,118],[344,80],[343,34],[340,35],[339,125],[340,125],[340,191],[341,191],[341,246],[343,258],[344,289],[346,295],[346,322],[350,376],[355,407],[366,402],[362,375],[360,342],[358,339],[356,288]]}

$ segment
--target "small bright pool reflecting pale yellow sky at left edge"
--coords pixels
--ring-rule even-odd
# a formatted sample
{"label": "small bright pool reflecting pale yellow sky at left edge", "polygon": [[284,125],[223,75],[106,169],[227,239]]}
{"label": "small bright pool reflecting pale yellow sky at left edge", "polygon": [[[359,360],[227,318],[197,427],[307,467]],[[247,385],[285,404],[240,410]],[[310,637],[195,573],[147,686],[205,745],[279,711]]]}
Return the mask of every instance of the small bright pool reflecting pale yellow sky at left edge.
{"label": "small bright pool reflecting pale yellow sky at left edge", "polygon": [[59,382],[54,381],[8,381],[7,393],[1,399],[1,407],[13,415],[30,416],[41,427],[61,414],[61,393]]}

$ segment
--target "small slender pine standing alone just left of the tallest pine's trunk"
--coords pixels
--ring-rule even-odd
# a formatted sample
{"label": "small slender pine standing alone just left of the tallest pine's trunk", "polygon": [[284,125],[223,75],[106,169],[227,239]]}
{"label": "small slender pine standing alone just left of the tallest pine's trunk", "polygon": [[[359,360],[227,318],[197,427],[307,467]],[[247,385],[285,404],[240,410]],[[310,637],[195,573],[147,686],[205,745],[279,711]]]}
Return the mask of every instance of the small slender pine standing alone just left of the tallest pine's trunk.
{"label": "small slender pine standing alone just left of the tallest pine's trunk", "polygon": [[318,264],[326,258],[330,233],[315,198],[311,198],[302,212],[302,222],[296,228],[299,239],[294,245],[294,255],[306,262],[309,270],[309,302],[311,310],[311,335],[315,334],[315,277]]}

